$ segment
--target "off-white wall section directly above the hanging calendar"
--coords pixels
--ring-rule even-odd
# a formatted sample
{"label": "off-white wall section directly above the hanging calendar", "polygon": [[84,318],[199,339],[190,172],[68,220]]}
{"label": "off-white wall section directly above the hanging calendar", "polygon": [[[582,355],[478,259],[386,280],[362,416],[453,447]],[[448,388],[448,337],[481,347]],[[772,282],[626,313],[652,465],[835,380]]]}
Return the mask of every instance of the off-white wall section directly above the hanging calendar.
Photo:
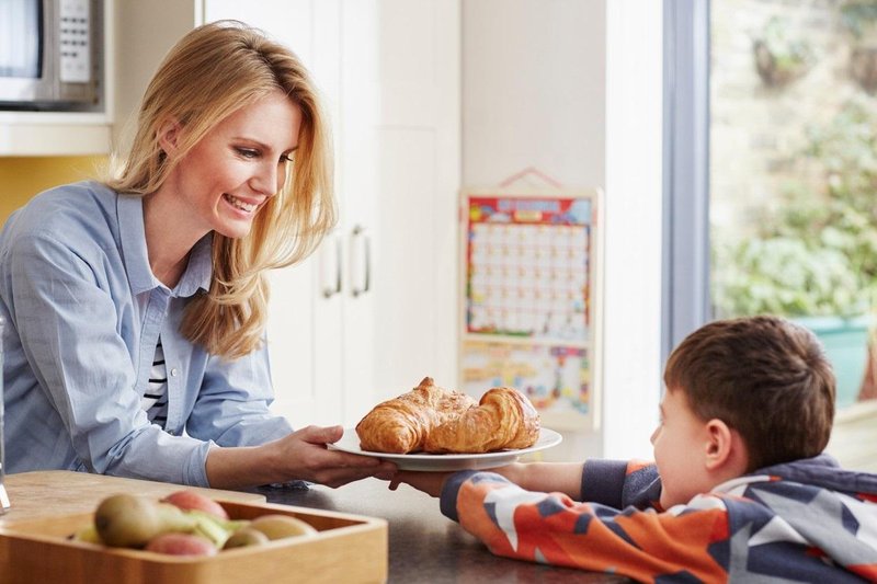
{"label": "off-white wall section directly above the hanging calendar", "polygon": [[603,0],[463,2],[463,181],[605,184]]}

